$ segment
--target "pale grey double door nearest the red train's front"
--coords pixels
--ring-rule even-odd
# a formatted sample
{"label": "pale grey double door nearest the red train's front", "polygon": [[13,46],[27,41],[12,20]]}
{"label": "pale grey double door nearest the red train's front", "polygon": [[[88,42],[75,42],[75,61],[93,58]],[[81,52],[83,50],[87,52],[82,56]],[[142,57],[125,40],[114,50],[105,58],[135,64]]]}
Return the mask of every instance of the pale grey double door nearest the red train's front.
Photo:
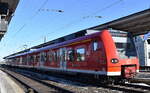
{"label": "pale grey double door nearest the red train's front", "polygon": [[66,48],[60,48],[60,68],[61,69],[66,69]]}

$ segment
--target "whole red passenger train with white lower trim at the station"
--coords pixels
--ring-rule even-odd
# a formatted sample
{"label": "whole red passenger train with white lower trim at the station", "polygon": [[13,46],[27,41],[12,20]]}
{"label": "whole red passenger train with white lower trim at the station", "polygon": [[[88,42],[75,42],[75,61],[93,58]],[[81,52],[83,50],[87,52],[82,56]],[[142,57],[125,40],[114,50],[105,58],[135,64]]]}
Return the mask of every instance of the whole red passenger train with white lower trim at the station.
{"label": "whole red passenger train with white lower trim at the station", "polygon": [[132,78],[139,71],[130,34],[109,30],[50,44],[5,59],[12,66],[95,75],[103,77],[103,80]]}

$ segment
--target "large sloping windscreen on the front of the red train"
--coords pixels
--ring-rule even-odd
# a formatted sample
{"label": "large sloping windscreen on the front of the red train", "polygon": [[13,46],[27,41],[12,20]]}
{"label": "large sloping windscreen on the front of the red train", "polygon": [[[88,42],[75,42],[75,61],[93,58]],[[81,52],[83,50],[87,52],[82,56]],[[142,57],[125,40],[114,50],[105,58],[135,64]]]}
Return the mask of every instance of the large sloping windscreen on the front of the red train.
{"label": "large sloping windscreen on the front of the red train", "polygon": [[137,57],[134,43],[127,33],[117,32],[113,33],[112,36],[121,59]]}

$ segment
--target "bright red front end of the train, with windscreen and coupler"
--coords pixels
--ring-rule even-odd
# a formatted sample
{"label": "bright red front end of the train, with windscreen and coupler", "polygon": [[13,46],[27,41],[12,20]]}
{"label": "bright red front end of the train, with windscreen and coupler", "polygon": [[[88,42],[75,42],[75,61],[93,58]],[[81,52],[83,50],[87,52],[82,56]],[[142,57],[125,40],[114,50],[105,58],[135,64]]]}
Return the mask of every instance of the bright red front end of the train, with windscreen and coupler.
{"label": "bright red front end of the train, with windscreen and coupler", "polygon": [[139,72],[139,61],[132,36],[121,31],[104,31],[101,37],[107,57],[107,76],[133,78]]}

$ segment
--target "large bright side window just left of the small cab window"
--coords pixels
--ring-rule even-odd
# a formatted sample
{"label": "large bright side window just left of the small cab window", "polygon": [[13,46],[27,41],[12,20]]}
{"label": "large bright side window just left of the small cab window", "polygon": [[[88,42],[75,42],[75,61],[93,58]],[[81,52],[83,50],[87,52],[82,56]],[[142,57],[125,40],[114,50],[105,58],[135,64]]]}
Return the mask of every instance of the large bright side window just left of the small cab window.
{"label": "large bright side window just left of the small cab window", "polygon": [[77,49],[77,61],[85,60],[85,48]]}

